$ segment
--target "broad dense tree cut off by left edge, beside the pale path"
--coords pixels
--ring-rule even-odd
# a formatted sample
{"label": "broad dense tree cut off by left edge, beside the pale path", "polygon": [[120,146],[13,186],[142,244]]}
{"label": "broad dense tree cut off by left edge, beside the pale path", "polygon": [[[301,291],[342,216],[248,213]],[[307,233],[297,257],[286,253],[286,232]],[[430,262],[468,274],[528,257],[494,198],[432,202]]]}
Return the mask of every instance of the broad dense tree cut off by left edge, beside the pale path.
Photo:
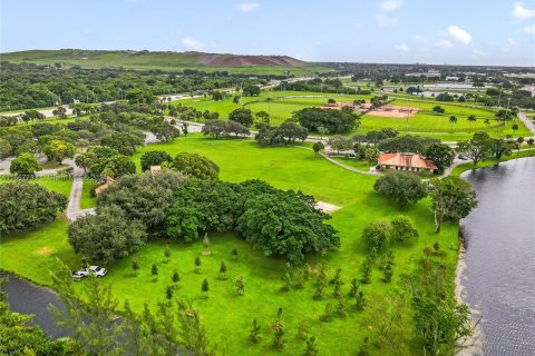
{"label": "broad dense tree cut off by left edge, beside the pale path", "polygon": [[33,229],[67,208],[66,196],[17,180],[0,185],[0,235]]}

